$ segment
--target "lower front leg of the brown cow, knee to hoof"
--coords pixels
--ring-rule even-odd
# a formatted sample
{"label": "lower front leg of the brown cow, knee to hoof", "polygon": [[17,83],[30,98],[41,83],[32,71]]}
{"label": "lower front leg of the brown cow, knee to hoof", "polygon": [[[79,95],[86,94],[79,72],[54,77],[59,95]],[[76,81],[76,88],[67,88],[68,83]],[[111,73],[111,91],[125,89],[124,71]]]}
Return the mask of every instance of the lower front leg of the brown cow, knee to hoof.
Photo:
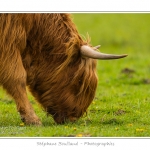
{"label": "lower front leg of the brown cow, knee to hoof", "polygon": [[[11,81],[10,81],[11,82]],[[12,86],[5,86],[7,92],[15,99],[17,110],[20,113],[21,120],[27,125],[41,125],[39,118],[36,116],[28,98],[25,84],[22,81],[12,81]]]}

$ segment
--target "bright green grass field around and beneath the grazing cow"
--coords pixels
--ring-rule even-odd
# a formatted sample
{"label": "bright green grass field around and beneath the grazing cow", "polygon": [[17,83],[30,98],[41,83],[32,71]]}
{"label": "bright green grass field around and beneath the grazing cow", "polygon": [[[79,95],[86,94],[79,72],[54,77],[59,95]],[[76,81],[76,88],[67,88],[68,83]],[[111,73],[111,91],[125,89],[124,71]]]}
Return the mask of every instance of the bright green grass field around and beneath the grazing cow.
{"label": "bright green grass field around and beneath the grazing cow", "polygon": [[[88,114],[75,123],[56,125],[29,94],[43,126],[25,126],[13,100],[0,90],[1,137],[149,137],[150,14],[74,14],[81,35],[105,53],[129,56],[98,61],[99,84]],[[83,36],[83,37],[84,37]]]}

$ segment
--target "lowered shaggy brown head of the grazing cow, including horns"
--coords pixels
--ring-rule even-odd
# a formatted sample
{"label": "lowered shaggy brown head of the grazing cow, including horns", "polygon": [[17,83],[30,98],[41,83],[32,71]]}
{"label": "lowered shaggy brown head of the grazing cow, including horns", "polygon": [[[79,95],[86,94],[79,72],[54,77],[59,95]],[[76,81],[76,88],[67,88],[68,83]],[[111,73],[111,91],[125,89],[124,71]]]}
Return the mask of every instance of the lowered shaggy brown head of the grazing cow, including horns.
{"label": "lowered shaggy brown head of the grazing cow, including horns", "polygon": [[97,48],[99,46],[92,48],[87,45],[74,45],[67,54],[53,54],[53,57],[58,57],[57,60],[53,57],[50,59],[56,62],[44,61],[43,64],[40,62],[42,68],[33,67],[38,70],[35,70],[36,76],[34,83],[30,83],[30,89],[56,123],[75,121],[86,112],[97,87],[96,59],[127,56],[103,54]]}

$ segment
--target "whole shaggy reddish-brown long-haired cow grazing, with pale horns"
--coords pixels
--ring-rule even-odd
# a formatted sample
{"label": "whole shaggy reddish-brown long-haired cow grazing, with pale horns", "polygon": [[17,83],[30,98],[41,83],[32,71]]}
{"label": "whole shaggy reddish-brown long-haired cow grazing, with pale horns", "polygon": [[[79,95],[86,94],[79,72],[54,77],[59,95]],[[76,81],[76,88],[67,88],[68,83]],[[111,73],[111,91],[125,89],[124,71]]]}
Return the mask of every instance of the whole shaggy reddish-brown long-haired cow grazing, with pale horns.
{"label": "whole shaggy reddish-brown long-haired cow grazing, with pale horns", "polygon": [[26,86],[57,123],[86,112],[96,86],[97,52],[81,39],[68,14],[0,14],[0,84],[26,124],[41,124]]}

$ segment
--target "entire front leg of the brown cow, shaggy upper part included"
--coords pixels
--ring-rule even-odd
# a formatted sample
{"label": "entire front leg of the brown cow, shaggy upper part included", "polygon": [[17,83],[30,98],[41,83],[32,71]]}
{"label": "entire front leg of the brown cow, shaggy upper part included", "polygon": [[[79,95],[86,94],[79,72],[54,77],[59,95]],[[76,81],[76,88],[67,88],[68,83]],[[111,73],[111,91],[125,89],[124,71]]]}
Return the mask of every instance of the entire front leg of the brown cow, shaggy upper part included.
{"label": "entire front leg of the brown cow, shaggy upper part included", "polygon": [[[13,61],[13,58],[11,61]],[[22,121],[27,125],[41,125],[27,97],[26,71],[23,67],[21,56],[18,55],[13,62],[7,63],[7,65],[5,65],[5,71],[6,72],[3,71],[3,74],[5,74],[7,78],[5,82],[2,83],[3,87],[14,98]]]}

